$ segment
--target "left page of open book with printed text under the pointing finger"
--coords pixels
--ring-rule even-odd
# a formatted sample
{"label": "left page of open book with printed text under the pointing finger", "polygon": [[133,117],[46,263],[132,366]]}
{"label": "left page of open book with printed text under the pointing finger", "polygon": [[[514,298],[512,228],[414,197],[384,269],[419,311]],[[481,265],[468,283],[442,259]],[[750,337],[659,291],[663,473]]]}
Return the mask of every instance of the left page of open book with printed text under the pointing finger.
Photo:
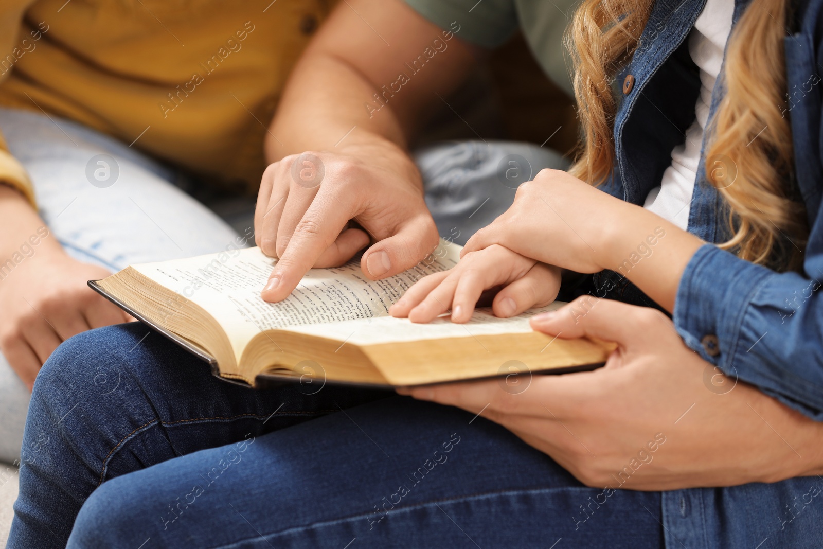
{"label": "left page of open book with printed text under the pointing finger", "polygon": [[[295,291],[279,303],[260,297],[277,259],[259,248],[143,263],[132,268],[205,309],[226,331],[235,356],[263,330],[370,319],[415,281],[457,264],[461,246],[441,240],[435,252],[414,268],[380,281],[360,271],[359,256],[339,268],[311,269]],[[182,301],[167,304],[174,314]]]}

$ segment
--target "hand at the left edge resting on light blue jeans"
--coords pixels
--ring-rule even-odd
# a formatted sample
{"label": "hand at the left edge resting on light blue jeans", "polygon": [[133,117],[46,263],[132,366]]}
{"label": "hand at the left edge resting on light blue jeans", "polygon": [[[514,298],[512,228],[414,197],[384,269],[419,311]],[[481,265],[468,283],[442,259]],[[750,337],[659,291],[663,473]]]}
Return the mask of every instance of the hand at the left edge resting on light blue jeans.
{"label": "hand at the left edge resting on light blue jeans", "polygon": [[131,320],[86,285],[107,276],[104,268],[41,244],[0,281],[0,351],[29,390],[61,342],[91,328]]}

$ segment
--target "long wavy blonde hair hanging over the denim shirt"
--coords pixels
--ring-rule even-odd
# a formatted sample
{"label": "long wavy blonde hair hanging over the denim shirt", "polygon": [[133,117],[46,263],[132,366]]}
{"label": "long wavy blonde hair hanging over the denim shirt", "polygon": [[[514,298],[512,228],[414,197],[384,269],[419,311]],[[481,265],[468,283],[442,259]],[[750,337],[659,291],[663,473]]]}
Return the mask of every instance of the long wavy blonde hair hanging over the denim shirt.
{"label": "long wavy blonde hair hanging over the denim shirt", "polygon": [[[653,0],[584,0],[566,34],[583,136],[570,173],[603,183],[615,162],[616,95],[610,83],[635,54]],[[709,182],[728,203],[732,237],[720,244],[771,268],[802,263],[808,226],[792,186],[783,38],[788,0],[754,0],[729,38],[721,75],[726,94],[709,125]],[[733,172],[731,171],[733,170]],[[730,181],[731,179],[731,181]]]}

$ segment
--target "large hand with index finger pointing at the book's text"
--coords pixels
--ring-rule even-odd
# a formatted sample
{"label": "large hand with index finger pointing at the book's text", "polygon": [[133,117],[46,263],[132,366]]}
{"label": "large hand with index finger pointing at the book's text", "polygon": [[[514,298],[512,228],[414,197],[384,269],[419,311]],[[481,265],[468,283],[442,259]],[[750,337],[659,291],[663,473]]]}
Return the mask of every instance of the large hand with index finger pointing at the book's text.
{"label": "large hand with index finger pointing at the book's text", "polygon": [[374,280],[411,268],[435,249],[437,228],[415,165],[389,143],[350,154],[286,156],[263,174],[255,241],[280,258],[263,299],[285,299],[310,268],[346,263],[370,241],[360,267]]}

